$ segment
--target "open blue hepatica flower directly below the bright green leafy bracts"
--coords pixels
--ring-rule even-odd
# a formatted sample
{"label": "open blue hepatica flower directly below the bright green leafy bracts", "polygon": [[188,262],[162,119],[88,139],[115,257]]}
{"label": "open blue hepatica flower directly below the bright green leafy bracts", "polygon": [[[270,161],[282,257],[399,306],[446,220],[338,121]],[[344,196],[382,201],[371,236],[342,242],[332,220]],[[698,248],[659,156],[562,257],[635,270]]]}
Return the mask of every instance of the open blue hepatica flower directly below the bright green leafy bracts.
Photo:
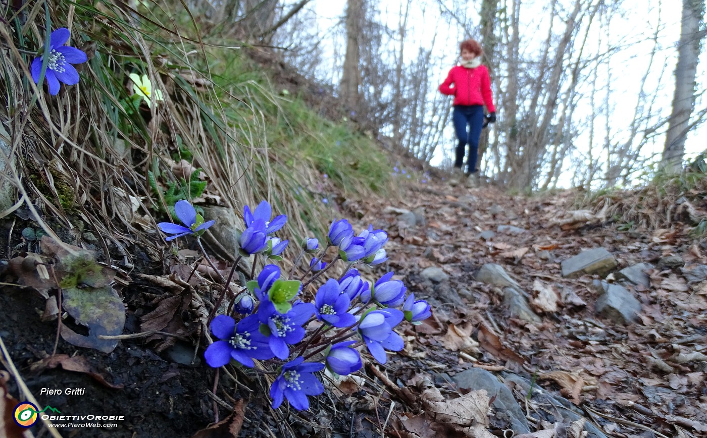
{"label": "open blue hepatica flower directly below the bright green leafy bracts", "polygon": [[287,344],[302,341],[305,337],[302,324],[314,314],[314,309],[314,304],[310,302],[296,302],[289,312],[281,314],[272,302],[260,303],[256,313],[262,324],[260,330],[267,336],[270,349],[276,357],[287,359],[290,355]]}

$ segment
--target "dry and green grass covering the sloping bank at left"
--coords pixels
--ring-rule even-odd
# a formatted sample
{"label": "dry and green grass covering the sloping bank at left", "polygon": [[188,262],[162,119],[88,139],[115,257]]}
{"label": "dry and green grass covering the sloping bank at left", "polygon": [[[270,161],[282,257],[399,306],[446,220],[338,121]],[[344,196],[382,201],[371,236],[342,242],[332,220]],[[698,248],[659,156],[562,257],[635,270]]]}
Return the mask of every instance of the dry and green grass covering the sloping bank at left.
{"label": "dry and green grass covering the sloping bank at left", "polygon": [[[175,165],[182,158],[203,170],[206,198],[239,215],[244,205],[266,199],[287,214],[284,238],[325,231],[337,215],[321,202],[326,169],[320,163],[340,163],[331,157],[317,162],[316,154],[299,147],[331,142],[320,138],[320,126],[300,108],[293,115],[293,102],[274,93],[262,73],[229,69],[243,57],[243,45],[202,41],[180,2],[134,10],[112,2],[94,8],[28,1],[19,13],[0,13],[11,24],[0,26],[0,85],[6,90],[0,124],[9,134],[11,156],[19,158],[9,179],[48,234],[57,227],[82,231],[83,225],[95,232],[105,254],[109,247],[114,255],[115,247],[133,247],[163,259],[165,244],[154,230],[165,220],[156,213],[169,206],[149,187],[148,172],[166,189],[182,176]],[[71,30],[70,45],[87,52],[89,61],[80,68],[78,85],[62,85],[50,96],[46,86],[33,83],[28,66],[48,33],[61,27]],[[132,94],[129,73],[147,74],[164,101],[131,114],[125,104]],[[376,160],[374,172],[358,173],[380,182],[358,182],[353,170],[325,183],[362,196],[373,186],[390,187],[378,177],[385,158],[370,158]],[[191,175],[183,176],[188,183]],[[288,248],[286,256],[295,253]]]}

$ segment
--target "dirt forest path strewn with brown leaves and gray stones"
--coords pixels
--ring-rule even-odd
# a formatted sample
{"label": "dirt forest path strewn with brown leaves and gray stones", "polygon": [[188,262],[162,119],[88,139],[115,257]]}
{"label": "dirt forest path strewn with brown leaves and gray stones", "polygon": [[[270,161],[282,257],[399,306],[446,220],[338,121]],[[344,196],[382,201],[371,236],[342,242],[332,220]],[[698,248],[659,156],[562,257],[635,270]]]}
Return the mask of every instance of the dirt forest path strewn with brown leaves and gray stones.
{"label": "dirt forest path strewn with brown leaves and gray stones", "polygon": [[390,268],[433,307],[380,367],[408,402],[400,436],[707,436],[705,248],[679,225],[621,232],[576,196],[442,181],[350,206],[382,218]]}

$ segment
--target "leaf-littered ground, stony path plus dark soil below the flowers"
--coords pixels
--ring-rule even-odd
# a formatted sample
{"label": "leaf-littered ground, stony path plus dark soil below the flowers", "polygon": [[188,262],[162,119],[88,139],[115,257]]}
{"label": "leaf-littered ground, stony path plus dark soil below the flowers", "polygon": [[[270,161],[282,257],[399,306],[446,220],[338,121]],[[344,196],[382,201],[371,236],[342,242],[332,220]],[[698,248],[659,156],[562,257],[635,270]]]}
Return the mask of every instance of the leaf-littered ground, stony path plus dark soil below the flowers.
{"label": "leaf-littered ground, stony path plus dark soil below the flowers", "polygon": [[19,264],[16,277],[35,291],[0,293],[3,356],[13,361],[0,363],[0,432],[21,375],[41,406],[124,416],[114,429],[33,429],[38,436],[707,436],[706,248],[684,225],[633,230],[607,203],[573,209],[577,191],[527,198],[428,179],[400,190],[337,203],[354,229],[373,223],[390,237],[389,260],[363,275],[395,271],[432,305],[423,324],[401,326],[405,348],[385,365],[364,355],[360,372],[325,379],[310,410],[272,411],[257,395],[268,391],[262,378],[215,380],[202,359],[201,297],[218,296],[218,282],[206,265],[193,273],[193,248],[116,277],[127,310],[110,354],[60,340],[48,306],[56,300],[35,293],[44,283],[34,264]]}

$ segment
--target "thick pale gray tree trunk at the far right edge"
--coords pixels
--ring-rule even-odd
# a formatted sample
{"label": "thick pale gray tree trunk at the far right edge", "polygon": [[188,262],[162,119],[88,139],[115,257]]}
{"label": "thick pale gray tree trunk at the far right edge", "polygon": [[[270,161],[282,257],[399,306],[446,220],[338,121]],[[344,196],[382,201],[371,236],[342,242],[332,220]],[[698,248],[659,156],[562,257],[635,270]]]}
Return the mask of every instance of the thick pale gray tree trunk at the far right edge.
{"label": "thick pale gray tree trunk at the far right edge", "polygon": [[675,93],[670,124],[665,136],[665,149],[660,161],[660,167],[667,172],[676,173],[682,169],[685,136],[689,131],[690,114],[695,105],[700,40],[705,35],[705,32],[700,30],[704,10],[704,0],[682,0],[682,29],[675,68]]}

